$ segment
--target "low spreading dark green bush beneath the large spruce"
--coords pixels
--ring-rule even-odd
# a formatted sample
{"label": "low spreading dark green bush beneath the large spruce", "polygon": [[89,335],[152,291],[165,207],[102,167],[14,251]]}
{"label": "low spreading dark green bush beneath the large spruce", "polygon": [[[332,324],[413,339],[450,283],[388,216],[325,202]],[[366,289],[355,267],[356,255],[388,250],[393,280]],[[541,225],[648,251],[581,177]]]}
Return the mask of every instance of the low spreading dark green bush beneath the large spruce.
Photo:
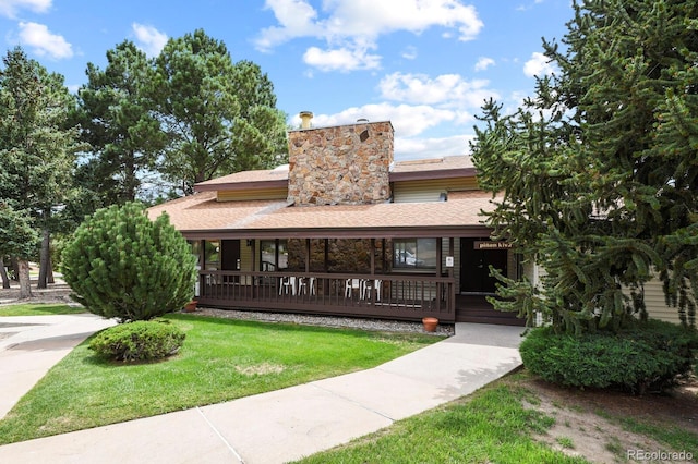
{"label": "low spreading dark green bush beneath the large spruce", "polygon": [[519,352],[527,369],[546,381],[577,388],[623,388],[643,393],[674,384],[691,370],[695,330],[650,320],[619,333],[582,335],[532,330]]}

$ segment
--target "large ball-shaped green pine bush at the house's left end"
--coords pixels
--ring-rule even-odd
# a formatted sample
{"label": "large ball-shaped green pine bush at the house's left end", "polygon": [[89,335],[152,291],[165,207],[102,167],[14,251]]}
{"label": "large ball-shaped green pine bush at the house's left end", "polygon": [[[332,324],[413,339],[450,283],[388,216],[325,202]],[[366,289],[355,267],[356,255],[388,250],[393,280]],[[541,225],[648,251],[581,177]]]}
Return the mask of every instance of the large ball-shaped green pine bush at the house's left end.
{"label": "large ball-shaped green pine bush at the house's left end", "polygon": [[87,217],[65,245],[62,271],[73,300],[120,322],[181,309],[194,294],[195,258],[167,215],[111,206]]}

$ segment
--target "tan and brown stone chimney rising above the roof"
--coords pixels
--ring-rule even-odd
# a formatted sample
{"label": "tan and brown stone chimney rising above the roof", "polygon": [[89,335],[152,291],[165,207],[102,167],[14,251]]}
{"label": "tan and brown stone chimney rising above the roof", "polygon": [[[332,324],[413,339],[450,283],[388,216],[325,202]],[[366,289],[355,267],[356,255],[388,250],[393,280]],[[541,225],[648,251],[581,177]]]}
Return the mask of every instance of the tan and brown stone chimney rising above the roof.
{"label": "tan and brown stone chimney rising above the roof", "polygon": [[288,200],[296,206],[365,205],[390,197],[389,121],[304,127],[289,132],[288,144]]}

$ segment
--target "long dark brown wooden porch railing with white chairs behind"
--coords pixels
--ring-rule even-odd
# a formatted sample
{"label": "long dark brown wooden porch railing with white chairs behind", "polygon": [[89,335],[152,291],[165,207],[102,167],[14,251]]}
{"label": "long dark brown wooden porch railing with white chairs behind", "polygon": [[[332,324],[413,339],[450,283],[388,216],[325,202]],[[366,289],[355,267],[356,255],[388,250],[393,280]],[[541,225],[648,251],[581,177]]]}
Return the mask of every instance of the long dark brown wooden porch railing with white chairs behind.
{"label": "long dark brown wooden porch railing with white chairs behind", "polygon": [[455,320],[454,279],[420,274],[200,271],[200,305],[401,320]]}

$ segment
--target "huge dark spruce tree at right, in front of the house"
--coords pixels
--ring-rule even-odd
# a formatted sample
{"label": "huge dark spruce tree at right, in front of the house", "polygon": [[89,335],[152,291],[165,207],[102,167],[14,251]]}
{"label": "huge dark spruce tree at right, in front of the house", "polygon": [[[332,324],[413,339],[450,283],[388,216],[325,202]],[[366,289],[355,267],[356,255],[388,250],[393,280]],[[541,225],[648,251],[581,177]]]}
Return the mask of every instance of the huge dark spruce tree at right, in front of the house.
{"label": "huge dark spruce tree at right, in front of the house", "polygon": [[488,102],[473,161],[503,192],[495,235],[543,266],[540,289],[500,276],[495,306],[559,331],[646,316],[643,284],[694,323],[698,291],[698,4],[575,2],[559,74],[515,114]]}

